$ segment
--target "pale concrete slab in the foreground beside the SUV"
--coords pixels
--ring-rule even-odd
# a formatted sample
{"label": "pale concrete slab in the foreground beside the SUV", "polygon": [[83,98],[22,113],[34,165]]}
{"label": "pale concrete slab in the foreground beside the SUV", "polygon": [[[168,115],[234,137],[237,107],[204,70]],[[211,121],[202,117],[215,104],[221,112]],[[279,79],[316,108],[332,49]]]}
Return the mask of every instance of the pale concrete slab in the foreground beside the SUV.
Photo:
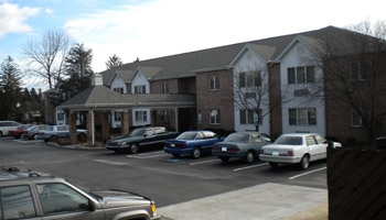
{"label": "pale concrete slab in the foreground beside the SUV", "polygon": [[281,184],[158,208],[163,220],[328,220],[328,190]]}

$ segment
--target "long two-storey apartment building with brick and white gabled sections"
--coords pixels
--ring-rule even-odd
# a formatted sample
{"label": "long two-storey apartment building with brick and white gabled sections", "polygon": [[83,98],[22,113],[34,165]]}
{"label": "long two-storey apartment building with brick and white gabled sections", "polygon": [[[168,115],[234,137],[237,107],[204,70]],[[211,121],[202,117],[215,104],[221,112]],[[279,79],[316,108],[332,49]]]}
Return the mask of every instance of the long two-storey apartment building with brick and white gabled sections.
{"label": "long two-storey apartment building with brick and white gabled sections", "polygon": [[[274,136],[290,132],[357,136],[361,128],[351,123],[353,116],[340,112],[326,99],[323,73],[326,55],[354,53],[353,35],[357,33],[326,26],[136,61],[100,73],[100,84],[121,97],[119,103],[112,103],[111,97],[108,101],[95,97],[95,103],[87,106],[74,97],[61,108],[90,111],[94,105],[93,111],[108,111],[112,128],[167,125],[179,131],[258,129]],[[128,117],[122,120],[125,112]]]}

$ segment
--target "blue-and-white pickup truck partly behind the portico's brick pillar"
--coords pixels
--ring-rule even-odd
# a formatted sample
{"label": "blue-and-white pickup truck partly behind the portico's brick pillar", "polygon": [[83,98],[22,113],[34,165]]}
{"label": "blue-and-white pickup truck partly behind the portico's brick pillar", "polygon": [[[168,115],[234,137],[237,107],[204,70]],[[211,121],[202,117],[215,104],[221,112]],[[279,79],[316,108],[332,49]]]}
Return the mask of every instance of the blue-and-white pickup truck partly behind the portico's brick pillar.
{"label": "blue-and-white pickup truck partly behind the portico's brick pillar", "polygon": [[[78,138],[87,135],[87,130],[77,129],[76,135]],[[56,142],[58,138],[68,139],[69,138],[69,127],[68,125],[51,125],[43,133],[37,133],[37,140],[43,140],[44,142]]]}

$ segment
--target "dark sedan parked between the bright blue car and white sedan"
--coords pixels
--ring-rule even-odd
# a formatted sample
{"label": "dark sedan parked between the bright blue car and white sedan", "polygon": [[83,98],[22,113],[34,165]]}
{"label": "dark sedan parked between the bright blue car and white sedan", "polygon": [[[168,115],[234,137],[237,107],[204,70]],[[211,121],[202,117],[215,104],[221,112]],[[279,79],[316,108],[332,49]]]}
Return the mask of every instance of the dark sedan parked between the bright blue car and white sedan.
{"label": "dark sedan parked between the bright blue car and white sedan", "polygon": [[214,144],[212,155],[227,163],[232,157],[253,163],[258,158],[261,146],[274,143],[272,138],[258,132],[235,132],[223,142]]}

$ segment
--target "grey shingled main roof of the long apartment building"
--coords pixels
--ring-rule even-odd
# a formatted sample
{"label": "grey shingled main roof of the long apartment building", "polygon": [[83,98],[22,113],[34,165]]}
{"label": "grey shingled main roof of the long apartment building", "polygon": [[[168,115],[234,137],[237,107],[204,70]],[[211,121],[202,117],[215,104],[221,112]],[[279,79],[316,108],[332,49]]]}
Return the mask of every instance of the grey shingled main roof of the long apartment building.
{"label": "grey shingled main roof of the long apartment building", "polygon": [[[239,51],[248,44],[250,48],[256,50],[267,61],[275,61],[276,57],[296,38],[302,37],[310,45],[319,51],[326,50],[331,53],[343,54],[357,50],[353,43],[353,38],[363,36],[356,32],[334,26],[308,31],[302,33],[269,37],[257,41],[230,44],[214,48],[189,52],[183,54],[170,55],[147,61],[136,61],[116,67],[116,69],[133,70],[137,67],[146,69],[153,67],[151,72],[151,80],[161,80],[170,78],[193,77],[200,69],[225,69],[229,68],[229,64],[239,53]],[[111,76],[114,69],[100,73],[104,80]]]}

